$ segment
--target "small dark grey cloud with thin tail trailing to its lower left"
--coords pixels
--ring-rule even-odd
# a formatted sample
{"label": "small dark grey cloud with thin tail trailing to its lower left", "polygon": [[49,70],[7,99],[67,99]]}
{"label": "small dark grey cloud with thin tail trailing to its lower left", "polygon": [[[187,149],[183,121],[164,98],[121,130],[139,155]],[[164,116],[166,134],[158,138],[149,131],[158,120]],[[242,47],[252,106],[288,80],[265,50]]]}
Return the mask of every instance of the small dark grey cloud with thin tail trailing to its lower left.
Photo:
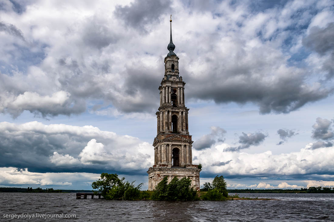
{"label": "small dark grey cloud with thin tail trailing to its lower left", "polygon": [[247,149],[250,146],[258,146],[265,140],[267,136],[268,135],[265,135],[261,132],[247,133],[247,134],[242,132],[242,135],[239,136],[239,143],[241,143],[241,145],[237,147],[227,147],[224,149],[224,151],[235,152],[242,149]]}

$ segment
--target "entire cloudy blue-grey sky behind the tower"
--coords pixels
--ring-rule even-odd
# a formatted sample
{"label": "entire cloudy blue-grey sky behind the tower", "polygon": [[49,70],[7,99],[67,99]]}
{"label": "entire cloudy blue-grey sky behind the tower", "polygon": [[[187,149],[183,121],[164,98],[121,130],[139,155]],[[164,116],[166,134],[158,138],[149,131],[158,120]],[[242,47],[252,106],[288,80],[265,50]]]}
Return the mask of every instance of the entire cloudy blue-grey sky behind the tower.
{"label": "entire cloudy blue-grey sky behind the tower", "polygon": [[0,186],[148,188],[171,14],[201,185],[334,187],[331,0],[0,0]]}

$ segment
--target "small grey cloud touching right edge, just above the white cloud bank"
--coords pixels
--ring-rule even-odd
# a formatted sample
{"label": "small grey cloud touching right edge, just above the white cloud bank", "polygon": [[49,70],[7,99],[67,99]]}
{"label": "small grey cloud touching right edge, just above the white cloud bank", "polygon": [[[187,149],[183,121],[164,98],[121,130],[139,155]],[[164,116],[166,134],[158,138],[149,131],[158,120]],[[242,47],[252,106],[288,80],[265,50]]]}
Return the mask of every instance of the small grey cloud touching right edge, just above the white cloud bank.
{"label": "small grey cloud touching right edge, just above the white cloud bank", "polygon": [[312,126],[312,138],[314,139],[322,139],[329,140],[334,138],[334,132],[331,129],[332,122],[328,119],[322,119],[318,117],[316,119],[316,123]]}

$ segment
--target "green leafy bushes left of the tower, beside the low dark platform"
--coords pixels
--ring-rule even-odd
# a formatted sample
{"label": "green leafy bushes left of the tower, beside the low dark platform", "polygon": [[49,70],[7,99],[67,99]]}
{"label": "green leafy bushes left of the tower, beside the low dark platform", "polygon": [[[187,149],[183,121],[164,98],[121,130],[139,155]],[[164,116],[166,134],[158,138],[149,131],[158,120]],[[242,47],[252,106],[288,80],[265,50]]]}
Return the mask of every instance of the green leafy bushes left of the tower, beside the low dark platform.
{"label": "green leafy bushes left of the tower, beside the low dark platform", "polygon": [[135,187],[133,182],[118,178],[118,174],[101,173],[101,178],[92,183],[93,189],[98,189],[107,200],[140,200],[140,188],[143,183]]}

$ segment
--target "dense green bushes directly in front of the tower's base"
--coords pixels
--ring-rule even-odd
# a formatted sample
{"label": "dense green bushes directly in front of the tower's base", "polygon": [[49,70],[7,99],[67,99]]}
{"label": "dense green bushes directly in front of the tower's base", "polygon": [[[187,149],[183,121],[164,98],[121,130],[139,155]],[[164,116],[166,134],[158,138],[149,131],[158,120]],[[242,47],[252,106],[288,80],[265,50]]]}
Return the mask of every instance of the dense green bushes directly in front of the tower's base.
{"label": "dense green bushes directly in front of the tower's base", "polygon": [[181,179],[174,177],[169,184],[165,176],[155,187],[152,194],[153,200],[166,201],[191,201],[199,200],[197,191],[191,187],[191,180],[187,177]]}

